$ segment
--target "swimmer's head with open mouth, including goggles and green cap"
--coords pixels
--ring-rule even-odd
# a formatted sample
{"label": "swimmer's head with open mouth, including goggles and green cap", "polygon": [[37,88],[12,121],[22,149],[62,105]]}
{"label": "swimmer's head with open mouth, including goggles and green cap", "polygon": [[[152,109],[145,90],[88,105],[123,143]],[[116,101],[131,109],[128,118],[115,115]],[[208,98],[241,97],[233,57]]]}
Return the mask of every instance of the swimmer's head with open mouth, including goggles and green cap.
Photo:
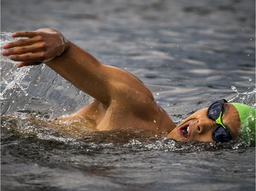
{"label": "swimmer's head with open mouth, including goggles and green cap", "polygon": [[248,126],[246,120],[251,121],[251,137],[253,137],[255,136],[255,109],[241,103],[216,101],[209,108],[200,109],[188,116],[169,133],[168,137],[177,141],[227,142],[236,139],[240,133],[244,137],[244,133],[247,132],[244,129]]}

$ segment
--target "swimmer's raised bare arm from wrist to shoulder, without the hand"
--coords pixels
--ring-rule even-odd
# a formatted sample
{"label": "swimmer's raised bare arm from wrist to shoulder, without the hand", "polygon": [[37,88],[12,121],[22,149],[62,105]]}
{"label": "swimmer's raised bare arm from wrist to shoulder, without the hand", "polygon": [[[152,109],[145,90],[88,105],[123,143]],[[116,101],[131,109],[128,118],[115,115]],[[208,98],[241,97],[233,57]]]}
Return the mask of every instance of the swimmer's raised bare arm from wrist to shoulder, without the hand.
{"label": "swimmer's raised bare arm from wrist to shoulder, without the hand", "polygon": [[46,62],[69,82],[98,101],[109,105],[111,100],[126,102],[132,97],[153,99],[152,94],[127,71],[103,65],[85,50],[70,43],[70,48],[61,56]]}

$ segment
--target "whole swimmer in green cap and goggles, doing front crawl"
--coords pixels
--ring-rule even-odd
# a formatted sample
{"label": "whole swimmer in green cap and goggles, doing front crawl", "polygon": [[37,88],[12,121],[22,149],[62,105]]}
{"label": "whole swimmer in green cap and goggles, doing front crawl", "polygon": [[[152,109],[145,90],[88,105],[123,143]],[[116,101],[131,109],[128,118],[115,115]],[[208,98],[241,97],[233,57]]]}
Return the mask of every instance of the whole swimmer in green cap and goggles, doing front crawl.
{"label": "whole swimmer in green cap and goggles, doing front crawl", "polygon": [[242,136],[255,142],[255,109],[247,105],[216,101],[176,126],[137,77],[100,63],[59,31],[20,31],[12,37],[27,38],[4,44],[3,56],[18,61],[18,67],[44,63],[94,98],[63,120],[89,119],[98,131],[139,128],[167,133],[167,137],[176,141],[227,142]]}

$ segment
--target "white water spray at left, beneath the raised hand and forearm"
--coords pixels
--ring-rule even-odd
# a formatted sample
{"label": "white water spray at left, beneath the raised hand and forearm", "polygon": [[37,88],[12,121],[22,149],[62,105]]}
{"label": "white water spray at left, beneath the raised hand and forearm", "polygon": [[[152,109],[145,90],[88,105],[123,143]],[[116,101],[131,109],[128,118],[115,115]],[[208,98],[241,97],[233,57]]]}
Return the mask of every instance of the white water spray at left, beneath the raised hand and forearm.
{"label": "white water spray at left, beneath the raised hand and forearm", "polygon": [[[12,40],[11,33],[1,32],[1,49],[3,44]],[[88,103],[87,95],[46,65],[18,69],[14,63],[7,56],[1,58],[2,115],[31,109],[55,117],[72,113]]]}

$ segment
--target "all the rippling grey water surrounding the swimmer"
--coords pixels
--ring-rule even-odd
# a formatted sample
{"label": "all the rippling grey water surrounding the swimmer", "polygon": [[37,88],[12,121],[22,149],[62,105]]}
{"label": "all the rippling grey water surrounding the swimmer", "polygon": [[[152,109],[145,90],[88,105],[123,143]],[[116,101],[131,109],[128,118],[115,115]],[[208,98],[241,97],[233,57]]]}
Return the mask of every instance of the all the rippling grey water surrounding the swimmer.
{"label": "all the rippling grey water surrounding the swimmer", "polygon": [[[217,99],[255,107],[255,1],[1,1],[1,45],[43,27],[137,75],[176,123]],[[91,100],[1,58],[1,190],[255,190],[255,147],[50,128]],[[3,116],[4,115],[4,116]],[[11,183],[11,184],[10,184]]]}

